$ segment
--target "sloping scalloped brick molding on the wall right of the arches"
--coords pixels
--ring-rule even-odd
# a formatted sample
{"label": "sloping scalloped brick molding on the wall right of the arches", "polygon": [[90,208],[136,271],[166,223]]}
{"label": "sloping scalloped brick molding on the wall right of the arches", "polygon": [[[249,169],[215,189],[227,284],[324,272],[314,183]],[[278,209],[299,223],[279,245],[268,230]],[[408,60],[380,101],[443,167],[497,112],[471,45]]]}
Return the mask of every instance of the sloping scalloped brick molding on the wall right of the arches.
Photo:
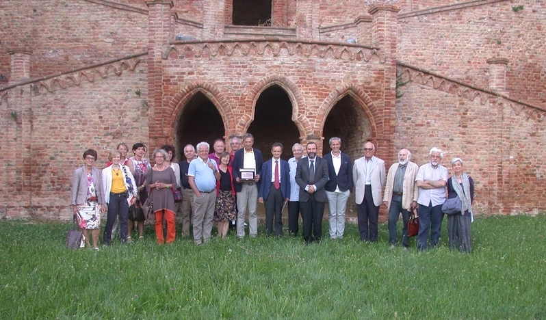
{"label": "sloping scalloped brick molding on the wall right of the arches", "polygon": [[398,62],[398,74],[402,75],[404,80],[419,83],[420,85],[426,85],[436,90],[447,92],[461,98],[465,98],[469,101],[474,101],[476,98],[480,99],[480,103],[485,105],[491,101],[495,101],[498,98],[504,99],[510,106],[510,109],[514,111],[517,116],[523,116],[528,120],[534,120],[536,122],[543,122],[546,118],[546,108],[531,105],[523,101],[517,101],[505,94],[500,94],[493,90],[484,88],[478,88],[467,83],[450,79],[442,75],[438,75],[434,72],[417,68],[403,62]]}

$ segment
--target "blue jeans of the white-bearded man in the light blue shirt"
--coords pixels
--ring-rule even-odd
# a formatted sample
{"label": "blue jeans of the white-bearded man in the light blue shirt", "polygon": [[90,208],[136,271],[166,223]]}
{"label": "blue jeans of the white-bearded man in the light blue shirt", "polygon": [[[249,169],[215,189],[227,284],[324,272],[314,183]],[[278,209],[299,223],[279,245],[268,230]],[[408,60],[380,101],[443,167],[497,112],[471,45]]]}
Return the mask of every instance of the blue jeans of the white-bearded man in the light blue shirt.
{"label": "blue jeans of the white-bearded man in the light blue shirt", "polygon": [[428,249],[428,230],[430,229],[430,245],[437,247],[440,242],[440,229],[442,227],[442,205],[428,206],[419,204],[419,234],[417,235],[417,250]]}

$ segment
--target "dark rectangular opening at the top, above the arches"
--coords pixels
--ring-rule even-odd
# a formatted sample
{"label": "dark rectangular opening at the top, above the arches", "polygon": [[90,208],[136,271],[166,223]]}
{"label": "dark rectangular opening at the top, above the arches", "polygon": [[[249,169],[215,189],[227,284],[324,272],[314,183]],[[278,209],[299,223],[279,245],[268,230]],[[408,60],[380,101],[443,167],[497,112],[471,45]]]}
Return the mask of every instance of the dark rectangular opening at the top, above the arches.
{"label": "dark rectangular opening at the top, above the arches", "polygon": [[233,25],[271,24],[271,0],[233,0]]}

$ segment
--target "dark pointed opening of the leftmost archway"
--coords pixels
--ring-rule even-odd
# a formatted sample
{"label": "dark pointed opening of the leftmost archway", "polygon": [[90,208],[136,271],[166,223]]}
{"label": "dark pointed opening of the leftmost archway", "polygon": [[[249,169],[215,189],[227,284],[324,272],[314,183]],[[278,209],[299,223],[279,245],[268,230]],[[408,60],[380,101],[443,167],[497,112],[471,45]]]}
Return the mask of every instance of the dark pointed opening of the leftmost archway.
{"label": "dark pointed opening of the leftmost archway", "polygon": [[183,107],[177,124],[177,159],[183,157],[183,148],[187,144],[196,146],[199,142],[208,142],[224,137],[224,122],[216,107],[202,93],[198,92]]}

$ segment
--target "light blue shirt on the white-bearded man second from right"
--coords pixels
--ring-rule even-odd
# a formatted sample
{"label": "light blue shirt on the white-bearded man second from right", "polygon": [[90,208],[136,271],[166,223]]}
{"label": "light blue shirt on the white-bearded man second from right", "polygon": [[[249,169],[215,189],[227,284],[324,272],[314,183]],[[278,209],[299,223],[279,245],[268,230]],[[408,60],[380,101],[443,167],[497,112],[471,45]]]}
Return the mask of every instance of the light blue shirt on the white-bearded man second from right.
{"label": "light blue shirt on the white-bearded man second from right", "polygon": [[[447,168],[443,165],[438,165],[437,168],[432,168],[430,163],[426,163],[419,167],[415,181],[439,181],[443,180],[447,182]],[[424,206],[428,206],[432,202],[432,206],[437,206],[445,202],[445,191],[446,187],[434,188],[434,189],[423,189],[419,188],[419,198],[417,198],[417,203]]]}

